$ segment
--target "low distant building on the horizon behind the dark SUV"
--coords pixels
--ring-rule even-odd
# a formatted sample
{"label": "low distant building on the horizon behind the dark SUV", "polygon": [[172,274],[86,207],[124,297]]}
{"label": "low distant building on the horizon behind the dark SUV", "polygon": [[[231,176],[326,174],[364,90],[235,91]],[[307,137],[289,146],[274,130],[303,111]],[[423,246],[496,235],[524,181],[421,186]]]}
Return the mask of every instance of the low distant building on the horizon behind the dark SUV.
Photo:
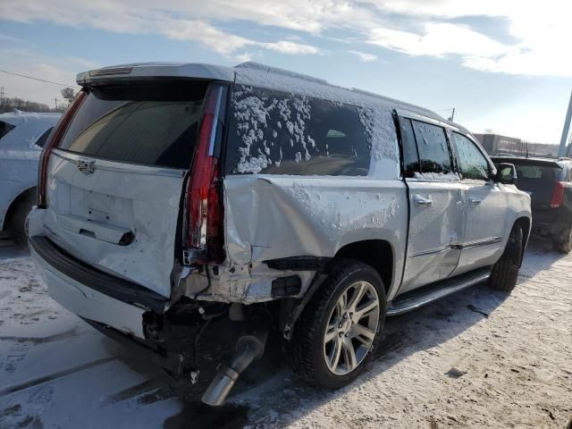
{"label": "low distant building on the horizon behind the dark SUV", "polygon": [[473,134],[489,155],[511,154],[516,156],[558,157],[558,145],[532,143],[499,134]]}

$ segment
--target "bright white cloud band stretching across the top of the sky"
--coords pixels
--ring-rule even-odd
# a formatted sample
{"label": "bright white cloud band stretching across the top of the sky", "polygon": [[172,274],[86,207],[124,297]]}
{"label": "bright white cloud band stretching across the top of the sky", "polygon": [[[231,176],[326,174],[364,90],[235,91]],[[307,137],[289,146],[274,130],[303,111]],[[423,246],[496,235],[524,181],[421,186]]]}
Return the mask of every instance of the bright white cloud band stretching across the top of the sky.
{"label": "bright white cloud band stretching across the top of the sky", "polygon": [[[394,17],[399,16],[399,21]],[[285,40],[253,40],[223,31],[228,21],[320,35],[341,29],[347,40],[408,55],[457,55],[466,67],[524,75],[572,76],[567,55],[572,2],[563,0],[3,0],[0,16],[12,21],[51,21],[132,34],[159,34],[197,41],[222,55],[243,48],[282,54],[316,54],[319,49]],[[512,42],[458,24],[475,16],[508,22]],[[457,19],[456,23],[447,21]],[[299,37],[299,36],[297,36]],[[328,38],[329,39],[329,38]]]}

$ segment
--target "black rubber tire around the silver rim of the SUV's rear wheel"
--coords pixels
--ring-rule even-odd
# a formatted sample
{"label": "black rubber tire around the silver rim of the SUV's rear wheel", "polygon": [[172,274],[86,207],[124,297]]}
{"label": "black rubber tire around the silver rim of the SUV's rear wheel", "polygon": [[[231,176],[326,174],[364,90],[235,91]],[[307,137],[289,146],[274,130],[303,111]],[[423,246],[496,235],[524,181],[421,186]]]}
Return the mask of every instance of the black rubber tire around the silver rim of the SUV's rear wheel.
{"label": "black rubber tire around the silver rim of the SUV's rear wheel", "polygon": [[[331,323],[332,312],[342,293],[349,290],[348,288],[356,282],[368,282],[377,293],[379,316],[377,318],[374,340],[365,355],[362,355],[363,357],[361,358],[363,360],[353,370],[348,374],[334,374],[328,368],[326,357],[324,356],[326,326]],[[320,289],[315,292],[315,296],[307,304],[302,315],[300,315],[294,326],[292,339],[285,343],[293,372],[307,383],[324,389],[338,389],[351,383],[357,378],[357,375],[360,374],[374,354],[374,350],[378,347],[381,337],[379,332],[383,327],[385,310],[386,300],[383,280],[374,268],[353,260],[333,261],[329,269],[328,278]],[[374,330],[372,329],[371,331],[373,332]],[[349,341],[352,340],[349,339]],[[341,347],[341,349],[344,349],[344,347]],[[338,355],[340,356],[340,353]]]}

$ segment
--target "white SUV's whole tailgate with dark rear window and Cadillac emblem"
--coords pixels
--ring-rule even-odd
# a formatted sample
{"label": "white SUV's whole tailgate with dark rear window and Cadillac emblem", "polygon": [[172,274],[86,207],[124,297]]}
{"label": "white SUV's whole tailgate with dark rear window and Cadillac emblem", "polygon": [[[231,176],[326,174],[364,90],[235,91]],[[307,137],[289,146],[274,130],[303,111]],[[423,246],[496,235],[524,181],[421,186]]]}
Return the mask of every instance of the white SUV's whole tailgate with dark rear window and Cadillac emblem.
{"label": "white SUV's whole tailgate with dark rear window and Cadillac emblem", "polygon": [[46,235],[89,265],[169,297],[206,87],[85,88],[49,160]]}

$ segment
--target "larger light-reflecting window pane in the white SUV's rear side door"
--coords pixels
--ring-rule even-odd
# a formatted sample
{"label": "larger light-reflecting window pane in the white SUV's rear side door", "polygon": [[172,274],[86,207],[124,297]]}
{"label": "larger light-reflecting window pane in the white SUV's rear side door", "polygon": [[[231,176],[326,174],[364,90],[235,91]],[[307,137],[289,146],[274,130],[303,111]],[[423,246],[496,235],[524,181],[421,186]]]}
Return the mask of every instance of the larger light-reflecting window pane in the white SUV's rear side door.
{"label": "larger light-reflecting window pane in the white SUV's rear side door", "polygon": [[450,153],[442,127],[413,121],[421,172],[451,172]]}

